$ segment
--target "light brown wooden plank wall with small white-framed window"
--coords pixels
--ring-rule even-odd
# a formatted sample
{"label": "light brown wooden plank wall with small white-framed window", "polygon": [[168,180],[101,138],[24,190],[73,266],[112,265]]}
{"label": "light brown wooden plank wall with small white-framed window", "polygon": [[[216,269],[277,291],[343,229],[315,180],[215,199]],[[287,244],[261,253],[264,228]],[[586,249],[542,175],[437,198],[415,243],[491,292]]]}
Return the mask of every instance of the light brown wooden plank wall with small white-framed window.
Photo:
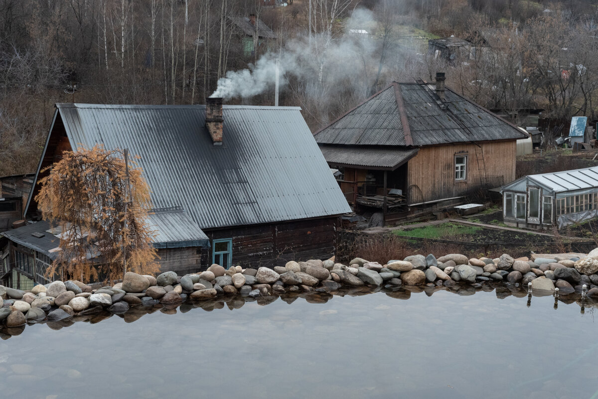
{"label": "light brown wooden plank wall with small white-framed window", "polygon": [[[479,144],[484,153],[486,175],[502,176],[504,184],[515,180],[515,140]],[[409,203],[459,197],[475,189],[479,185],[477,148],[473,143],[421,148],[408,164]],[[466,179],[457,181],[454,179],[454,156],[462,151],[468,155]]]}

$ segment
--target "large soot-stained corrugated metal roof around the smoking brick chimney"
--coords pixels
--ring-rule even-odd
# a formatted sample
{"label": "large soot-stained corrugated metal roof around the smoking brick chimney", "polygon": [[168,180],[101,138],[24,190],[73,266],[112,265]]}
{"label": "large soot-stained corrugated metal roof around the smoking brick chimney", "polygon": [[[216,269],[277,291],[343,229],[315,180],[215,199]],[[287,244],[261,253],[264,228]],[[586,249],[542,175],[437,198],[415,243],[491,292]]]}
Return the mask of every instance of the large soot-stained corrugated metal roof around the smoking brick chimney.
{"label": "large soot-stained corrugated metal roof around the smoking brick chimney", "polygon": [[153,206],[181,207],[202,229],[350,211],[298,107],[225,105],[221,146],[202,105],[57,108],[73,148],[141,156]]}

